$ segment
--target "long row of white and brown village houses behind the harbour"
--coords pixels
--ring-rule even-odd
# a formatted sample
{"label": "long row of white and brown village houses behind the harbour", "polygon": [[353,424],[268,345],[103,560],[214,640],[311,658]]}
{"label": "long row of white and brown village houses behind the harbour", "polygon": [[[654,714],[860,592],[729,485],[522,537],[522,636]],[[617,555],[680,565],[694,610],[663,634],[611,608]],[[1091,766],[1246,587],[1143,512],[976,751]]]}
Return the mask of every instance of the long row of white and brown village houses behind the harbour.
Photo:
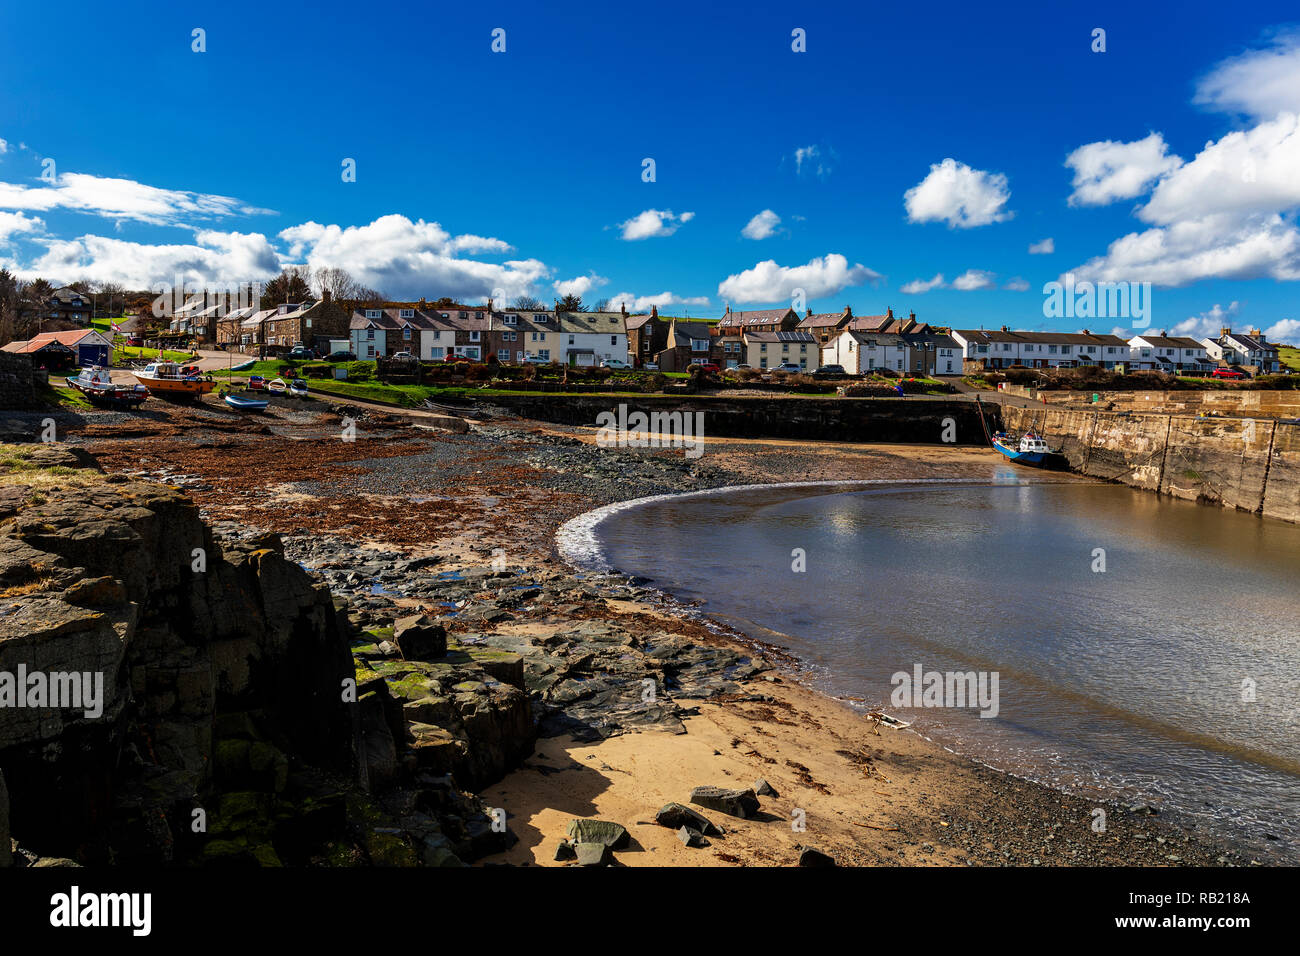
{"label": "long row of white and brown village houses behind the harbour", "polygon": [[326,295],[318,302],[218,315],[194,303],[173,319],[173,330],[243,352],[277,352],[298,345],[325,354],[346,342],[358,359],[410,354],[422,360],[462,356],[503,364],[556,362],[599,365],[627,362],[644,368],[684,371],[708,362],[719,368],[812,371],[837,364],[853,375],[889,369],[906,375],[963,375],[1005,368],[1071,368],[1197,373],[1238,365],[1257,373],[1279,369],[1277,345],[1258,329],[1191,338],[1165,332],[1123,338],[1113,333],[948,329],[915,313],[855,316],[841,312],[800,315],[793,308],[733,311],[720,319],[660,316],[619,311],[566,312],[485,306],[382,303],[348,310]]}

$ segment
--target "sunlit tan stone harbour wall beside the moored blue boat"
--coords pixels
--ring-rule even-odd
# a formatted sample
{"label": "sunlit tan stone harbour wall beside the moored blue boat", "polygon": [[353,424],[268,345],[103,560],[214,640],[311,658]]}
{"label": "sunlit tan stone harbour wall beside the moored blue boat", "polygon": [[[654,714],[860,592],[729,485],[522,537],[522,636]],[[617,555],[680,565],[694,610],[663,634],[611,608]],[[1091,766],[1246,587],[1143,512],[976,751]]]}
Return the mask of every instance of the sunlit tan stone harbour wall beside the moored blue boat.
{"label": "sunlit tan stone harbour wall beside the moored blue boat", "polygon": [[1084,475],[1300,522],[1300,425],[1053,406],[1002,415],[1013,432],[1041,431]]}

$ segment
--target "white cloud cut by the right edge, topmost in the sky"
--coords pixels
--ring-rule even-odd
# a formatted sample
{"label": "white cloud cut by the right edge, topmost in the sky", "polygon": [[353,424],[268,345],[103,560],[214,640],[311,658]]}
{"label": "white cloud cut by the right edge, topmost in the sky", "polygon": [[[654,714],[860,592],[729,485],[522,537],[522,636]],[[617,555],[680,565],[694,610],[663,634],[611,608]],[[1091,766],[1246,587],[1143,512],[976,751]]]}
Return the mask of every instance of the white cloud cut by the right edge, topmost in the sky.
{"label": "white cloud cut by the right edge, topmost in the sky", "polygon": [[1277,34],[1266,49],[1218,64],[1197,83],[1192,101],[1257,120],[1300,113],[1300,31]]}

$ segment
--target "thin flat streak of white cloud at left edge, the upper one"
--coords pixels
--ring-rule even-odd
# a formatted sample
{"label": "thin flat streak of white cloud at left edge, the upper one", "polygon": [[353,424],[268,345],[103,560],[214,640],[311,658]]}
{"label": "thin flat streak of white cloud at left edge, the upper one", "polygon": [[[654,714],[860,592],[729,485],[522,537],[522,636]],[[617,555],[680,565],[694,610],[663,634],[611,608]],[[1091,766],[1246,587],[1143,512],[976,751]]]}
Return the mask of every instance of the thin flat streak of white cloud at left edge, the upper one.
{"label": "thin flat streak of white cloud at left edge, the upper one", "polygon": [[268,212],[230,196],[159,189],[134,179],[64,173],[55,183],[22,186],[0,182],[0,208],[48,212],[74,209],[113,220],[151,225],[185,225],[199,219]]}

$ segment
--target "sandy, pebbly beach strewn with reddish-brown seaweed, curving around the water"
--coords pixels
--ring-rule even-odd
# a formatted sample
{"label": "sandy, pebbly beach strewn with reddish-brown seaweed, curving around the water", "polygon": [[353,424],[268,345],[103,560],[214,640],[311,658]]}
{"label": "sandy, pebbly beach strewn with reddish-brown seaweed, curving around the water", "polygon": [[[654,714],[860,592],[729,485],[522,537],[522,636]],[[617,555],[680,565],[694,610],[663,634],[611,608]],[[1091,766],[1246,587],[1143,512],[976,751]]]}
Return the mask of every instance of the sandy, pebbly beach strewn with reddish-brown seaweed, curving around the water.
{"label": "sandy, pebbly beach strewn with reddish-brown seaweed, curving around the water", "polygon": [[[478,791],[488,805],[507,810],[520,838],[482,862],[554,865],[567,822],[593,816],[623,823],[646,849],[619,853],[628,865],[792,865],[802,847],[845,865],[1252,862],[1204,831],[1118,806],[1108,810],[1106,832],[1096,834],[1096,801],[992,770],[918,734],[874,734],[852,706],[807,687],[780,648],[737,641],[724,624],[692,622],[634,583],[610,580],[618,575],[575,574],[555,538],[593,509],[654,494],[792,477],[987,480],[979,476],[998,463],[987,449],[728,438],[708,442],[710,454],[690,462],[671,451],[597,449],[594,429],[526,420],[473,421],[459,434],[365,414],[358,442],[346,445],[332,441],[334,410],[320,403],[265,420],[208,408],[159,412],[148,420],[87,414],[68,438],[109,472],[179,484],[209,520],[281,535],[286,555],[347,597],[359,626],[391,623],[396,610],[450,597],[463,606],[447,618],[448,639],[523,657],[534,701],[543,705],[543,735],[521,766]],[[365,545],[384,550],[368,553]],[[437,574],[403,571],[389,554],[408,563],[437,558]],[[520,581],[510,587],[536,584],[547,604],[517,605],[506,588],[493,592],[494,558],[504,558]],[[581,718],[585,736],[551,732],[584,706],[592,710],[590,701],[547,697],[563,684],[541,692],[532,685],[533,669],[550,666],[551,652],[572,663],[593,641],[621,641],[637,650],[638,666],[658,666],[653,654],[664,635],[675,636],[677,662],[660,672],[670,675],[666,688],[680,684],[664,713],[646,722],[619,704],[610,727],[597,710],[599,719]],[[724,650],[750,658],[754,672],[736,682],[723,676],[734,665],[718,670],[710,654]],[[640,680],[619,666],[584,680],[606,682],[608,700],[621,700],[623,688]],[[698,693],[708,682],[737,687]],[[706,812],[728,830],[708,848],[688,848],[672,830],[638,823],[666,803],[688,804],[693,787],[749,787],[758,777],[780,796],[764,797],[764,817],[755,821]],[[793,810],[805,813],[806,830],[792,829]]]}

